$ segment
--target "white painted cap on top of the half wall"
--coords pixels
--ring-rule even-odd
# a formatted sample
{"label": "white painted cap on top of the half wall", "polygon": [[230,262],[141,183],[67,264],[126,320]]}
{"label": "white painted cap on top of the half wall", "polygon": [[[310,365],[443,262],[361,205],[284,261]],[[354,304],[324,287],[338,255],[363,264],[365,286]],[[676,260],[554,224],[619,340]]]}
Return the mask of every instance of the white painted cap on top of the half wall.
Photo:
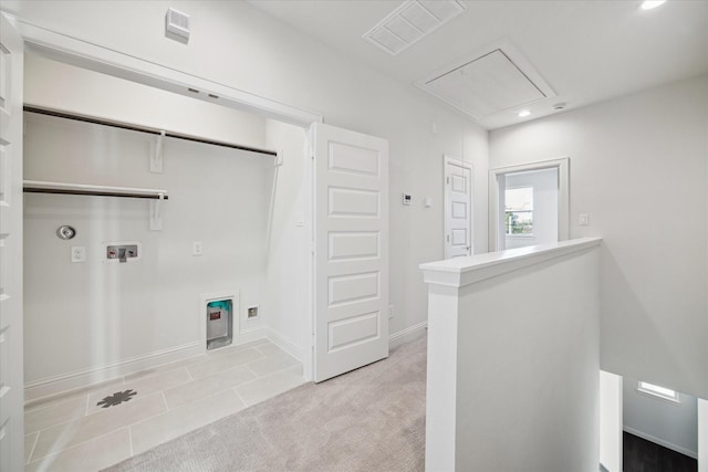
{"label": "white painted cap on top of the half wall", "polygon": [[562,258],[590,250],[601,244],[602,238],[582,238],[550,244],[488,252],[470,258],[420,264],[425,283],[450,287],[462,287],[508,272],[540,264],[551,259]]}

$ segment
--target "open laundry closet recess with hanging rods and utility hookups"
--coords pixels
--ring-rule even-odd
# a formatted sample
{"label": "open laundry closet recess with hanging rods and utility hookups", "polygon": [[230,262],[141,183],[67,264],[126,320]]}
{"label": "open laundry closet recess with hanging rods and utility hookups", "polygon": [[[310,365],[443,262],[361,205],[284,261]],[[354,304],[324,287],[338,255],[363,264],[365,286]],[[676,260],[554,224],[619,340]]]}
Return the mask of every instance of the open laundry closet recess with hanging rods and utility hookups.
{"label": "open laundry closet recess with hanging rods and utility hookups", "polygon": [[27,402],[266,339],[306,365],[305,130],[25,57]]}

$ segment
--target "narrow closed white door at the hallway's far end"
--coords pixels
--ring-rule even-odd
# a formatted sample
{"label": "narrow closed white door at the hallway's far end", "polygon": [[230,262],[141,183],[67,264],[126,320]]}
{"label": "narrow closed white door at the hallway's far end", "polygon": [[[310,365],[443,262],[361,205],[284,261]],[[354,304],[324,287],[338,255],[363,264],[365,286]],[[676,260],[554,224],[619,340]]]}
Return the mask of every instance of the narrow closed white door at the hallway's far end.
{"label": "narrow closed white door at the hallway's far end", "polygon": [[472,167],[445,156],[445,259],[472,254]]}

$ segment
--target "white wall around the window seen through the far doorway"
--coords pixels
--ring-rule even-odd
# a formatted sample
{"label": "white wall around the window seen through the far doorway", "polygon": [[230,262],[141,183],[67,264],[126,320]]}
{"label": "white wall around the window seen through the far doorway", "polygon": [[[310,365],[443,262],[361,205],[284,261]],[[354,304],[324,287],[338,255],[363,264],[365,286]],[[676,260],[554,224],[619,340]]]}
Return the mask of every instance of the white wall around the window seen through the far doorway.
{"label": "white wall around the window seen through the far doorway", "polygon": [[507,174],[504,188],[533,187],[533,234],[507,235],[506,248],[558,241],[558,168]]}

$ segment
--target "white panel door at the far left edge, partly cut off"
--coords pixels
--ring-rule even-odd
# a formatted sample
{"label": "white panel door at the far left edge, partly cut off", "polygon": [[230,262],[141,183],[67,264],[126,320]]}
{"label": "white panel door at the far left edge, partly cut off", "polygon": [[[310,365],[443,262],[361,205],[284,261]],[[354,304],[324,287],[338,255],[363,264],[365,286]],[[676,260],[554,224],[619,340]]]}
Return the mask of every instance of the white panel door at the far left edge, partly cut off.
{"label": "white panel door at the far left edge, partly cut off", "polygon": [[0,14],[0,470],[24,468],[22,39]]}

